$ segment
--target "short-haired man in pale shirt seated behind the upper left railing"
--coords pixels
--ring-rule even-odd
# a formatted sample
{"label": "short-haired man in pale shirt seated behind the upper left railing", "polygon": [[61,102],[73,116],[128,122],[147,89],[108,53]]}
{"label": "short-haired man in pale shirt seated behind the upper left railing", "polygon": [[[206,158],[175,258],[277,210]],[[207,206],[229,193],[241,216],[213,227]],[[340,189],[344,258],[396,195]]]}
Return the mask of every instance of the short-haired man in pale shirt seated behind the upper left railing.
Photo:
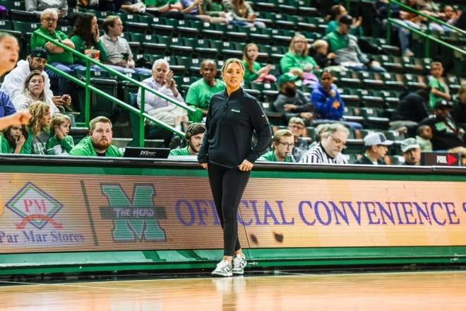
{"label": "short-haired man in pale shirt seated behind the upper left railing", "polygon": [[124,74],[150,74],[150,69],[136,68],[133,52],[128,41],[122,37],[123,23],[119,16],[110,15],[102,23],[105,35],[100,37],[100,42],[107,51],[107,60],[104,61],[112,69]]}

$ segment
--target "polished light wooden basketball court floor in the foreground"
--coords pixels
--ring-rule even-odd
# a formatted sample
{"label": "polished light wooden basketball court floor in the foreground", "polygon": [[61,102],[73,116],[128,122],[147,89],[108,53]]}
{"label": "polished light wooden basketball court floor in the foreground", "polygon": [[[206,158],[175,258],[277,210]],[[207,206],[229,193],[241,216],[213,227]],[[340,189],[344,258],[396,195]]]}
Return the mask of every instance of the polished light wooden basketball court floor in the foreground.
{"label": "polished light wooden basketball court floor in the foreground", "polygon": [[466,310],[466,271],[3,281],[0,310]]}

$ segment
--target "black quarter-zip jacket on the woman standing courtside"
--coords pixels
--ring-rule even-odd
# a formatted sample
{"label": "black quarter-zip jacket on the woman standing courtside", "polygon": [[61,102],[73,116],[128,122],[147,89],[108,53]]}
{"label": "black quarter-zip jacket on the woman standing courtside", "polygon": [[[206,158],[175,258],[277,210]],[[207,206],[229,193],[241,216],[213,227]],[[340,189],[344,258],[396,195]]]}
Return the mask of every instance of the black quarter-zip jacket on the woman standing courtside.
{"label": "black quarter-zip jacket on the woman standing courtside", "polygon": [[[237,168],[244,159],[254,163],[272,141],[272,130],[261,105],[242,88],[230,96],[223,90],[210,98],[205,127],[198,163],[225,168]],[[252,146],[254,131],[257,143]]]}

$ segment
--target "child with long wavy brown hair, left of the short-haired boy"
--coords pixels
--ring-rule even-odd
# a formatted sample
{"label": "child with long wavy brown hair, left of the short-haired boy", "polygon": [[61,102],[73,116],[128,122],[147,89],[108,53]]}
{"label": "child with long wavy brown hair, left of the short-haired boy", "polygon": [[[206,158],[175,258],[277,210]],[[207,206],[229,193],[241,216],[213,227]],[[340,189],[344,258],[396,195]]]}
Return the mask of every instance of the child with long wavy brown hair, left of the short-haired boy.
{"label": "child with long wavy brown hair, left of the short-haired boy", "polygon": [[[47,154],[45,146],[50,138],[50,105],[46,102],[32,102],[29,106],[31,119],[28,125],[28,140],[32,141],[32,154]],[[28,142],[26,142],[28,143]]]}

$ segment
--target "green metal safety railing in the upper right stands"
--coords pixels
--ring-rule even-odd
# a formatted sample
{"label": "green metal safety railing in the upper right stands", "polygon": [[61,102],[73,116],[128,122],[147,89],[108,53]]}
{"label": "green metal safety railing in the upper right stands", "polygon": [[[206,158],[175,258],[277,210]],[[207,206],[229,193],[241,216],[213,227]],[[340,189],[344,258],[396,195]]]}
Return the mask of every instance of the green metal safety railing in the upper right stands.
{"label": "green metal safety railing in the upper right stands", "polygon": [[[400,8],[404,8],[406,11],[411,11],[413,13],[418,14],[419,16],[423,16],[423,17],[427,18],[426,30],[419,30],[419,29],[416,29],[416,28],[412,28],[412,27],[406,25],[405,23],[402,23],[402,21],[400,21],[400,20],[398,20],[396,18],[390,18],[390,15],[391,15],[390,4],[396,4],[396,5],[400,6]],[[410,6],[407,6],[405,4],[402,4],[401,2],[399,2],[397,0],[388,0],[387,8],[388,8],[387,42],[390,42],[390,40],[391,40],[390,24],[394,23],[396,25],[399,25],[402,28],[410,30],[412,33],[416,33],[417,35],[421,35],[422,37],[426,38],[426,40],[424,42],[425,57],[429,57],[429,55],[430,55],[430,49],[429,49],[430,41],[434,41],[434,42],[436,42],[436,43],[438,43],[440,45],[443,45],[444,47],[448,47],[450,49],[453,49],[454,51],[459,52],[461,54],[466,54],[465,49],[460,49],[459,47],[455,47],[454,45],[450,45],[448,42],[445,42],[445,41],[443,41],[443,40],[441,40],[441,39],[439,39],[437,37],[432,36],[431,35],[431,30],[429,29],[429,23],[437,23],[438,25],[446,26],[446,27],[450,28],[451,30],[454,30],[455,32],[457,32],[458,34],[461,34],[461,35],[466,35],[465,30],[462,30],[462,29],[460,29],[458,27],[455,27],[453,25],[445,23],[443,20],[439,20],[438,18],[434,18],[433,16],[429,16],[428,14],[422,13],[421,11],[417,11],[416,9],[411,8]]]}

